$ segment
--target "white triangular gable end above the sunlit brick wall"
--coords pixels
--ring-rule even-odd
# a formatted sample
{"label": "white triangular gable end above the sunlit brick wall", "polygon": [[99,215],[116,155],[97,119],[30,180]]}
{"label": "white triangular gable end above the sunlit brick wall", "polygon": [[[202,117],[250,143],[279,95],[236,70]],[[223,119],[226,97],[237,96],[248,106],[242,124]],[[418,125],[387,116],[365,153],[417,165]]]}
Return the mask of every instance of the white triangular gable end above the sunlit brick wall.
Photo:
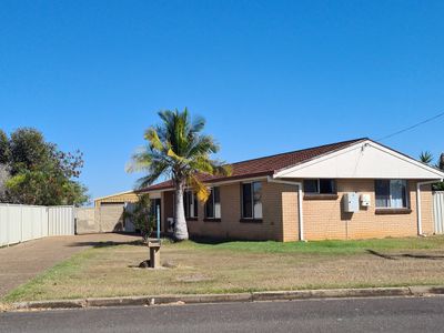
{"label": "white triangular gable end above the sunlit brick wall", "polygon": [[424,179],[444,173],[371,140],[360,141],[305,163],[278,171],[273,178]]}

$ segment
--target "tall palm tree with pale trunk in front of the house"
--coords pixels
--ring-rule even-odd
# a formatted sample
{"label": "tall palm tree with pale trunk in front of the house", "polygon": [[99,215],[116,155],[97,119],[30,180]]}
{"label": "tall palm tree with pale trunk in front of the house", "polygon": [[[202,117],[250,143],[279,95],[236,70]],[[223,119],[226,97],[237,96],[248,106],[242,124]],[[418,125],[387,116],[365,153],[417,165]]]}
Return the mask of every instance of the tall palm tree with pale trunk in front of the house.
{"label": "tall palm tree with pale trunk in front of the house", "polygon": [[205,121],[194,118],[184,109],[183,112],[160,111],[160,125],[150,127],[144,134],[148,145],[135,153],[128,171],[145,171],[139,189],[152,184],[161,175],[171,178],[174,184],[174,239],[188,240],[188,228],[183,206],[183,193],[186,188],[196,192],[198,199],[205,202],[209,189],[200,175],[231,174],[230,165],[212,160],[211,154],[219,151],[218,144],[210,135],[201,134]]}

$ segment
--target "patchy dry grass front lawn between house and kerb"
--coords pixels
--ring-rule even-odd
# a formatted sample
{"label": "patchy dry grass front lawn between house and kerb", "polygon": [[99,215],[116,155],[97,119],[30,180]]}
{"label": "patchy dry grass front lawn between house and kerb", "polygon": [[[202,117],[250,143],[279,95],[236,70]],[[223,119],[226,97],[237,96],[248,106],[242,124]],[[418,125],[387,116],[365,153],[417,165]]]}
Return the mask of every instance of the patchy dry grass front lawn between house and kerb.
{"label": "patchy dry grass front lawn between house and kerb", "polygon": [[140,243],[85,250],[3,301],[444,284],[444,236],[321,242],[164,242],[163,269]]}

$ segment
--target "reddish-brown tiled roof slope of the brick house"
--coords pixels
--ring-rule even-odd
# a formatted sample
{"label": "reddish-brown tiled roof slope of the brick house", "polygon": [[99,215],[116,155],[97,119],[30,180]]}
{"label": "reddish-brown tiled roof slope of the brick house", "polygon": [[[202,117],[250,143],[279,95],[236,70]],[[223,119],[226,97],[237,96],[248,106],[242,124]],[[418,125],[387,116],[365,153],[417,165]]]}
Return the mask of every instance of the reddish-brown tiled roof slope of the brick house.
{"label": "reddish-brown tiled roof slope of the brick house", "polygon": [[[204,182],[222,182],[228,180],[235,180],[235,179],[246,179],[246,178],[254,178],[261,175],[272,175],[274,172],[285,169],[289,167],[293,167],[303,162],[307,162],[314,158],[319,158],[323,154],[337,151],[344,149],[349,145],[352,145],[359,141],[367,140],[366,138],[342,141],[325,145],[319,145],[314,148],[296,150],[292,152],[246,160],[242,162],[232,163],[232,174],[230,176],[211,176],[211,175],[201,175],[201,180]],[[143,190],[144,191],[154,191],[154,190],[164,190],[170,189],[173,186],[172,181],[161,182],[151,186],[148,186]]]}

